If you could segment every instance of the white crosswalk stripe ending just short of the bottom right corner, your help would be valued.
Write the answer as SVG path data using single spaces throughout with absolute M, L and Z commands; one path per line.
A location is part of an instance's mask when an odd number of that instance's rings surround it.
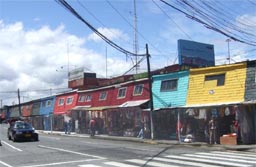
M 219 161 L 219 160 L 210 160 L 210 159 L 202 159 L 202 158 L 195 158 L 195 157 L 185 157 L 185 155 L 181 155 L 181 156 L 168 155 L 166 157 L 174 158 L 174 159 L 205 162 L 205 163 L 214 163 L 214 164 L 227 165 L 227 166 L 237 166 L 237 167 L 249 167 L 250 166 L 250 165 L 242 165 L 242 164 L 238 164 L 238 163 Z

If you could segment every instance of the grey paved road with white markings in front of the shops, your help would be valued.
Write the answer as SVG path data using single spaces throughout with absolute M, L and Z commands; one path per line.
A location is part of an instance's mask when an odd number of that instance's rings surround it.
M 1 125 L 0 125 L 1 126 Z M 40 134 L 39 142 L 12 142 L 0 127 L 2 167 L 256 166 L 256 153 Z

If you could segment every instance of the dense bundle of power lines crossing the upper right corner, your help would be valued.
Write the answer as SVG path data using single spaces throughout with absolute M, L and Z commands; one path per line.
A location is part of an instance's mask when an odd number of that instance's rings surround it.
M 254 34 L 241 30 L 241 28 L 235 26 L 233 23 L 226 23 L 225 18 L 220 19 L 215 15 L 209 15 L 209 11 L 213 12 L 213 9 L 209 8 L 209 6 L 202 6 L 202 4 L 199 6 L 197 2 L 187 0 L 177 0 L 177 3 L 174 5 L 166 2 L 165 0 L 160 1 L 167 6 L 183 13 L 191 20 L 204 25 L 208 29 L 221 33 L 234 41 L 256 46 L 256 40 L 253 40 L 255 37 Z M 193 5 L 193 2 L 196 5 Z M 205 10 L 205 8 L 209 11 L 206 12 L 207 10 Z

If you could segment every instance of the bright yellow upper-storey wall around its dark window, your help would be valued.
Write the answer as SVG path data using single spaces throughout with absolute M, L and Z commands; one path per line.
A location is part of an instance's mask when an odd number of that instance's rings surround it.
M 206 75 L 225 73 L 225 83 L 205 81 Z M 244 101 L 246 63 L 190 69 L 187 105 Z

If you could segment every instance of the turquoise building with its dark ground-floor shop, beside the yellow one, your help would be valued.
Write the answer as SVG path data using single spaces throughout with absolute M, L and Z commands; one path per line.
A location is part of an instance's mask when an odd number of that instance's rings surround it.
M 189 71 L 178 71 L 152 77 L 153 121 L 157 138 L 178 139 L 180 107 L 186 105 Z

